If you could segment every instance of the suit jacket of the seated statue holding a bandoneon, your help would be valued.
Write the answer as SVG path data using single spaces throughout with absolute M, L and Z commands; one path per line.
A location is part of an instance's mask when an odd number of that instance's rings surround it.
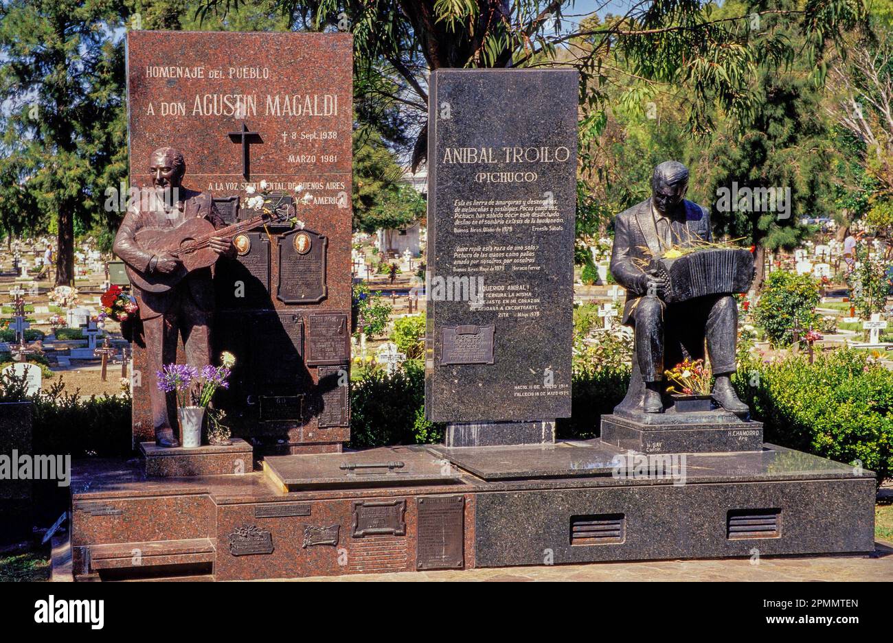
M 686 200 L 685 220 L 672 221 L 673 243 L 679 246 L 690 245 L 694 239 L 712 241 L 710 215 L 706 208 Z M 611 253 L 611 274 L 614 280 L 626 288 L 626 303 L 623 305 L 622 324 L 630 325 L 630 313 L 639 297 L 645 294 L 638 291 L 638 276 L 645 271 L 637 261 L 648 261 L 661 252 L 657 236 L 655 218 L 651 211 L 651 199 L 624 210 L 614 218 L 614 243 Z

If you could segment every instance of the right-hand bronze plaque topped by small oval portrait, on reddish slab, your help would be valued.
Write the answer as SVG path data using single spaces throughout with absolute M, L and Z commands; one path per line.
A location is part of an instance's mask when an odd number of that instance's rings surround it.
M 279 286 L 284 303 L 319 303 L 326 298 L 326 251 L 329 240 L 312 230 L 292 230 L 279 237 Z

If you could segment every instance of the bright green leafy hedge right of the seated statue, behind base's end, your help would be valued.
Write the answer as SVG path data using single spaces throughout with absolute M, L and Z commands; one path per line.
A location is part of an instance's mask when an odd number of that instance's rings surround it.
M 744 364 L 735 383 L 765 441 L 893 475 L 893 372 L 864 352 Z

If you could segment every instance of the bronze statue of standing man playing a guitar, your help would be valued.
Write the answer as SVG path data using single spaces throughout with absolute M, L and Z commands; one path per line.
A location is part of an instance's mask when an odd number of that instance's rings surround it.
M 234 257 L 230 227 L 209 193 L 182 187 L 183 155 L 172 147 L 149 159 L 152 189 L 128 209 L 114 252 L 126 264 L 139 305 L 146 341 L 144 385 L 149 387 L 155 443 L 176 447 L 167 396 L 155 385 L 155 372 L 177 359 L 182 337 L 188 364 L 212 363 L 214 288 L 211 267 L 218 257 Z M 255 224 L 256 225 L 256 224 Z M 223 229 L 220 229 L 223 228 Z

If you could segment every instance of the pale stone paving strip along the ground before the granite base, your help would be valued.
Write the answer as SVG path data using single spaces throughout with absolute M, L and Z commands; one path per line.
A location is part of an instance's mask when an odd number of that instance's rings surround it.
M 463 572 L 363 573 L 296 581 L 893 581 L 893 543 L 872 556 L 808 556 L 503 567 Z

